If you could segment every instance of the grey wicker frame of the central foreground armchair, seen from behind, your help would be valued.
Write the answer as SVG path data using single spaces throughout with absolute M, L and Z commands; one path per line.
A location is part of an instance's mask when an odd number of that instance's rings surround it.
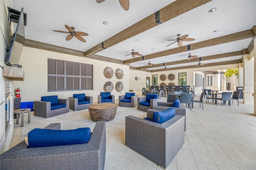
M 125 144 L 166 168 L 184 144 L 185 117 L 176 115 L 160 124 L 134 116 L 125 122 Z

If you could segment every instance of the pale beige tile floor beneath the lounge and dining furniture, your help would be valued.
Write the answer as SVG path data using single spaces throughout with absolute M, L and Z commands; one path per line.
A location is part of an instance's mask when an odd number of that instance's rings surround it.
M 105 170 L 162 169 L 125 146 L 125 117 L 128 115 L 144 118 L 146 112 L 138 111 L 137 107 L 118 107 L 116 117 L 106 122 Z M 48 119 L 31 116 L 29 124 L 27 114 L 24 119 L 24 127 L 14 124 L 10 147 L 24 140 L 33 128 L 44 128 L 50 123 L 61 123 L 62 129 L 90 127 L 91 130 L 96 124 L 91 121 L 88 109 L 70 110 Z M 204 99 L 204 110 L 199 103 L 194 104 L 192 111 L 186 107 L 185 144 L 166 169 L 256 170 L 256 116 L 253 105 L 239 103 L 238 106 L 234 101 L 231 107 L 222 107 L 220 101 L 214 105 L 211 101 L 206 104 Z

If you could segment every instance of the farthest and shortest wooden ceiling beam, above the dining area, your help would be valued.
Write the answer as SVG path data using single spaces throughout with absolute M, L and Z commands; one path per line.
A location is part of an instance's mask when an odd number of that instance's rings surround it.
M 229 64 L 238 64 L 238 60 L 232 60 L 232 61 L 223 61 L 218 63 L 208 63 L 207 65 L 198 65 L 195 67 L 195 65 L 188 65 L 188 66 L 182 66 L 182 67 L 172 67 L 168 70 L 165 69 L 156 69 L 151 70 L 151 72 L 157 72 L 157 71 L 170 71 L 170 70 L 178 70 L 178 69 L 192 69 L 192 68 L 198 68 L 198 67 L 211 67 L 211 66 L 219 66 L 219 65 L 229 65 Z

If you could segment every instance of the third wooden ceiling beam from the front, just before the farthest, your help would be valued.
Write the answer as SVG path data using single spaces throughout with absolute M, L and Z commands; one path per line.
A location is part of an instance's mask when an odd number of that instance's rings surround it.
M 225 57 L 233 57 L 233 56 L 239 56 L 243 55 L 243 51 L 234 51 L 230 53 L 223 53 L 223 54 L 217 54 L 217 55 L 208 55 L 205 57 L 202 57 L 202 61 L 210 60 L 210 59 L 220 59 L 220 58 L 225 58 Z M 167 65 L 176 65 L 176 64 L 184 64 L 184 63 L 190 63 L 190 62 L 196 62 L 199 61 L 199 58 L 192 58 L 190 60 L 184 59 L 180 61 L 173 61 L 173 62 L 168 62 L 164 63 L 164 66 Z M 163 63 L 152 65 L 152 66 L 144 66 L 144 67 L 137 67 L 136 69 L 148 69 L 148 68 L 154 68 L 154 67 L 162 67 Z

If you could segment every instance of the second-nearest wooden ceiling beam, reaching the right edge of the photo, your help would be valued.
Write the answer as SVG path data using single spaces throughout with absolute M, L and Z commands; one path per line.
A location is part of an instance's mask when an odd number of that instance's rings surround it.
M 256 27 L 256 26 L 254 26 L 254 27 Z M 234 34 L 229 34 L 226 36 L 190 44 L 190 50 L 210 47 L 210 46 L 219 45 L 219 44 L 228 43 L 228 42 L 234 42 L 234 41 L 238 41 L 238 40 L 244 40 L 244 39 L 252 38 L 252 37 L 254 37 L 254 33 L 253 33 L 252 29 L 245 30 L 245 31 L 234 33 Z M 176 54 L 176 53 L 182 53 L 182 52 L 186 52 L 186 51 L 188 51 L 187 45 L 182 46 L 182 47 L 176 47 L 173 49 L 168 49 L 165 51 L 160 51 L 157 53 L 152 53 L 149 55 L 144 55 L 144 60 L 149 60 L 149 59 L 153 59 L 153 58 L 157 58 L 157 57 L 172 55 L 172 54 Z M 142 61 L 142 57 L 136 57 L 133 59 L 125 60 L 124 64 L 134 63 L 137 61 Z

